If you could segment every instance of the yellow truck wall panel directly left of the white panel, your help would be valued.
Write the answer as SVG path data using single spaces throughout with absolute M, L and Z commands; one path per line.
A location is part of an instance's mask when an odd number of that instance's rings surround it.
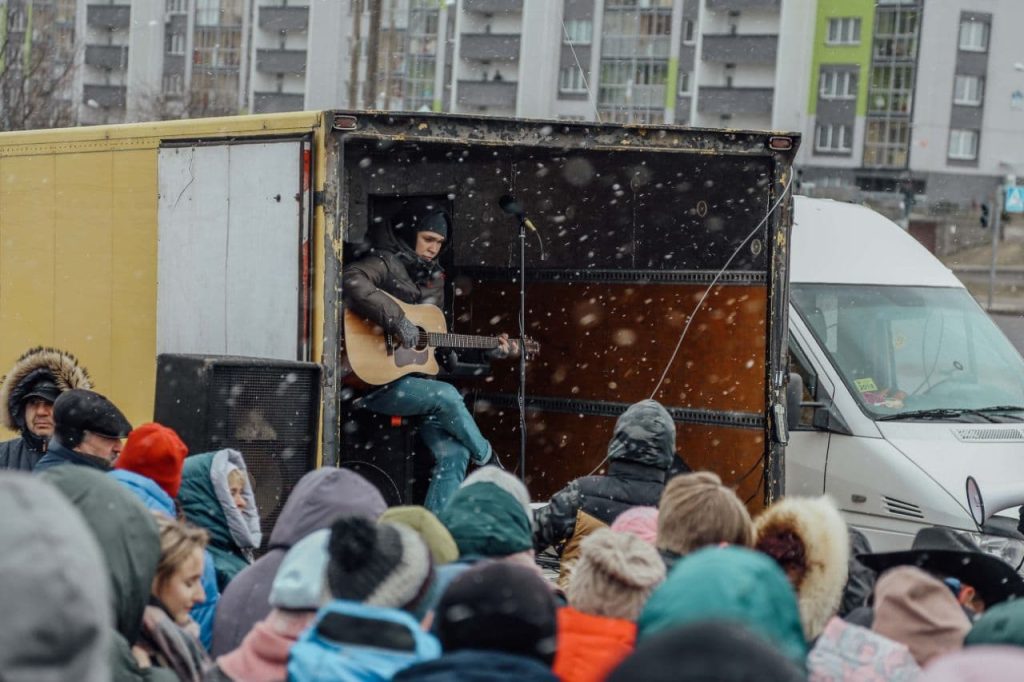
M 153 421 L 157 356 L 157 152 L 112 155 L 111 397 Z M 116 397 L 115 397 L 116 396 Z

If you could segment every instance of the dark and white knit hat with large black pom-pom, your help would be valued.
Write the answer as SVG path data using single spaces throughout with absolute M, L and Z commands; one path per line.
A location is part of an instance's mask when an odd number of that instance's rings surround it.
M 336 599 L 416 611 L 433 580 L 430 550 L 416 531 L 348 516 L 331 526 L 328 585 Z

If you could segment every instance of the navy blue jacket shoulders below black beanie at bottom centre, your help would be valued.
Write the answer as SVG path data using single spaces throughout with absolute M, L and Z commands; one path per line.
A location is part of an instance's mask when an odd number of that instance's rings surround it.
M 551 669 L 536 658 L 505 651 L 460 649 L 436 660 L 416 664 L 394 676 L 395 682 L 558 682 Z

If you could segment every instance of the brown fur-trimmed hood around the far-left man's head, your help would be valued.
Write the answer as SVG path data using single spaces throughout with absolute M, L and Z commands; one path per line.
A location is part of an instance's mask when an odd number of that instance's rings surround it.
M 14 367 L 0 379 L 0 423 L 11 431 L 22 431 L 25 419 L 22 400 L 41 379 L 52 381 L 61 392 L 72 388 L 92 388 L 92 380 L 78 358 L 58 348 L 39 346 L 17 358 Z

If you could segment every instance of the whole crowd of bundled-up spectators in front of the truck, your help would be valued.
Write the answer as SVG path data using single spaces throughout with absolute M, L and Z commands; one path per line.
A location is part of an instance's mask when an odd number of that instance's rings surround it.
M 1024 580 L 926 528 L 871 552 L 827 498 L 755 516 L 681 467 L 653 400 L 604 473 L 535 511 L 482 466 L 437 513 L 359 474 L 294 487 L 264 542 L 245 456 L 131 428 L 74 358 L 0 386 L 9 680 L 952 682 L 1024 670 Z M 538 553 L 554 552 L 547 574 Z

